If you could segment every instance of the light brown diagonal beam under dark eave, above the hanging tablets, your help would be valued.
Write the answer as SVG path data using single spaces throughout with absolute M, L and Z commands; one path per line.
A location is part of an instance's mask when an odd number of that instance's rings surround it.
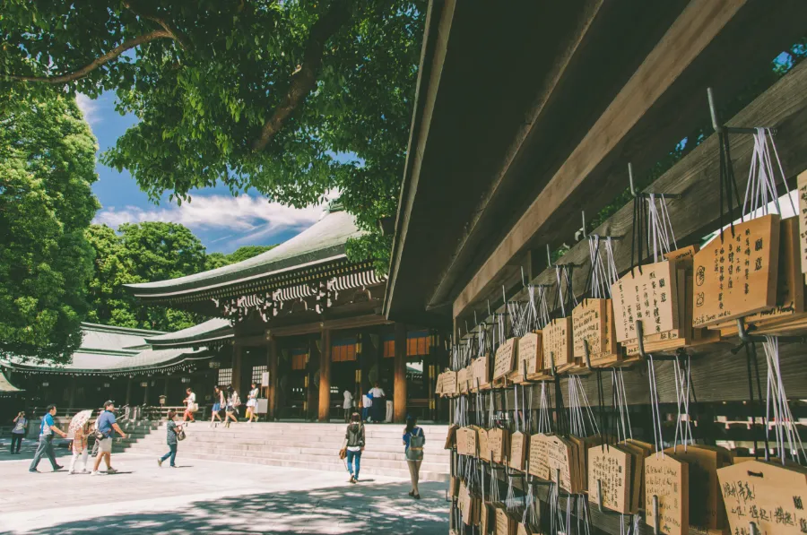
M 744 0 L 694 0 L 673 22 L 594 127 L 560 166 L 513 229 L 454 302 L 455 317 L 479 297 L 513 257 L 521 254 L 552 212 L 617 148 L 672 83 L 745 4 Z

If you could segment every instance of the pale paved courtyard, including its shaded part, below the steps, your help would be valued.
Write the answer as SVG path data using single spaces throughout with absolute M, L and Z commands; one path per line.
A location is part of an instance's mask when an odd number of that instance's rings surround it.
M 47 461 L 30 474 L 34 444 L 26 442 L 23 454 L 11 455 L 0 441 L 0 533 L 448 531 L 445 483 L 422 484 L 415 502 L 402 479 L 369 476 L 349 485 L 342 473 L 183 459 L 181 449 L 178 469 L 119 453 L 114 475 L 51 472 Z M 69 455 L 57 452 L 66 467 Z

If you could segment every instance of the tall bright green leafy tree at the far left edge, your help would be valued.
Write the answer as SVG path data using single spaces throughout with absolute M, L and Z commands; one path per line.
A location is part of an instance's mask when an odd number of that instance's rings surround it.
M 65 362 L 87 314 L 97 143 L 74 99 L 18 97 L 0 113 L 0 354 Z

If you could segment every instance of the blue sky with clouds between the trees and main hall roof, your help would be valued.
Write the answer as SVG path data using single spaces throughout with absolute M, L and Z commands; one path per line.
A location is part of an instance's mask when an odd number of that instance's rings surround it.
M 121 116 L 115 110 L 114 93 L 104 93 L 91 100 L 77 98 L 84 118 L 98 138 L 100 151 L 114 145 L 126 129 L 136 123 L 133 115 Z M 171 221 L 193 230 L 209 253 L 231 253 L 240 246 L 282 243 L 310 225 L 321 214 L 321 207 L 298 210 L 268 203 L 255 192 L 233 197 L 226 186 L 192 192 L 191 203 L 170 203 L 165 194 L 161 203 L 149 201 L 127 172 L 96 164 L 99 180 L 92 186 L 102 208 L 94 222 L 117 228 L 120 223 L 139 221 Z

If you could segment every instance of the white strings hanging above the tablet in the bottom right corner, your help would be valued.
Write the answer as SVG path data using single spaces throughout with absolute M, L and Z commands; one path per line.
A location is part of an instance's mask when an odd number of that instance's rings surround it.
M 766 419 L 770 419 L 771 404 L 773 405 L 773 422 L 777 440 L 777 449 L 782 464 L 785 464 L 787 451 L 794 462 L 801 464 L 804 455 L 804 446 L 799 431 L 795 427 L 793 413 L 790 404 L 787 402 L 785 384 L 782 381 L 782 370 L 779 367 L 779 341 L 776 336 L 766 336 L 762 344 L 765 349 L 765 357 L 768 360 L 768 397 L 766 401 Z M 766 431 L 770 436 L 770 424 Z M 786 445 L 785 445 L 786 443 Z

